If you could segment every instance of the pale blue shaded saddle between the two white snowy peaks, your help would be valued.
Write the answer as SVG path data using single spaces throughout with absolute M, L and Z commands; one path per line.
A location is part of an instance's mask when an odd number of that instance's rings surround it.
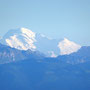
M 57 47 L 59 40 L 51 39 L 42 34 L 36 34 L 35 46 L 37 50 L 45 53 L 47 56 L 56 57 L 59 55 L 59 48 Z

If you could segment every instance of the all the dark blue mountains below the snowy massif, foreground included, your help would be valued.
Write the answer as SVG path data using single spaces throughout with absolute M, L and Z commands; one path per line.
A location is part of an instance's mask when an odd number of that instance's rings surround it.
M 0 90 L 90 90 L 90 46 L 52 58 L 0 44 Z

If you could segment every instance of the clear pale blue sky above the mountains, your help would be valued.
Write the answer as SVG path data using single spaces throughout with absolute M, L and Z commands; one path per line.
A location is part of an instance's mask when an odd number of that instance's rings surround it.
M 90 45 L 90 0 L 0 0 L 0 36 L 19 27 Z

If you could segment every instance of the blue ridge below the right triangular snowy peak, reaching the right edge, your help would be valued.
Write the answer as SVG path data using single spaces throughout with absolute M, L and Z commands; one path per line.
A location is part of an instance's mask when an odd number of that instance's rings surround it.
M 88 62 L 90 61 L 90 46 L 83 46 L 77 52 L 70 55 L 60 55 L 57 59 L 70 64 Z

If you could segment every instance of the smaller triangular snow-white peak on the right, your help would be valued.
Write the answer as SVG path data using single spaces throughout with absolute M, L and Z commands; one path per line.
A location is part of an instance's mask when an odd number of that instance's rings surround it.
M 60 55 L 71 54 L 73 52 L 77 52 L 81 48 L 80 45 L 69 41 L 67 38 L 60 41 L 58 47 L 60 49 Z

